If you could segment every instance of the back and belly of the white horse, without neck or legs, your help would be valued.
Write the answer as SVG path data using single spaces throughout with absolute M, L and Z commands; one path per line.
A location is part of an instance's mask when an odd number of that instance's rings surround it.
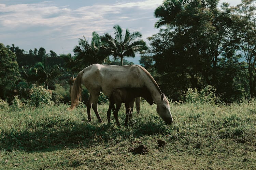
M 143 87 L 143 72 L 137 65 L 93 64 L 84 69 L 83 82 L 87 88 L 99 86 L 106 96 L 110 96 L 113 89 Z

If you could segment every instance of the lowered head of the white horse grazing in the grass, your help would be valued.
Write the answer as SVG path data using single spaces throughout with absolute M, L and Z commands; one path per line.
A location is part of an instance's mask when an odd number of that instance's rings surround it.
M 170 105 L 164 94 L 161 94 L 161 101 L 157 104 L 156 112 L 166 124 L 171 124 L 173 122 Z

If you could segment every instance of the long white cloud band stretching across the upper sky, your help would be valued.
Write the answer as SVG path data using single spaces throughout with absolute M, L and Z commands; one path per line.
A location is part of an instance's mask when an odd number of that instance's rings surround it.
M 65 24 L 77 24 L 79 22 L 97 21 L 104 25 L 109 22 L 105 16 L 108 14 L 120 14 L 124 8 L 138 7 L 148 10 L 154 9 L 161 1 L 147 0 L 130 3 L 117 3 L 112 5 L 92 5 L 83 6 L 77 9 L 65 7 L 50 6 L 48 2 L 34 4 L 16 4 L 6 6 L 0 4 L 0 24 L 4 27 L 17 28 L 24 26 L 46 25 L 46 26 L 63 26 Z M 126 19 L 126 16 L 121 16 L 120 19 Z

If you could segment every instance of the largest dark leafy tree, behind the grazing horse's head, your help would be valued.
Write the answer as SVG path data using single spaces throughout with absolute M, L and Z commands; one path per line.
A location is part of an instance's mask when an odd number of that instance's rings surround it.
M 200 89 L 206 85 L 223 89 L 219 77 L 225 77 L 224 73 L 232 79 L 222 80 L 233 84 L 234 72 L 225 70 L 228 68 L 221 62 L 237 49 L 240 22 L 227 3 L 221 8 L 217 4 L 218 0 L 189 1 L 179 12 L 169 13 L 173 16 L 166 29 L 149 38 L 154 66 L 166 90 L 168 86 L 184 91 L 187 87 Z M 177 99 L 178 94 L 170 94 Z

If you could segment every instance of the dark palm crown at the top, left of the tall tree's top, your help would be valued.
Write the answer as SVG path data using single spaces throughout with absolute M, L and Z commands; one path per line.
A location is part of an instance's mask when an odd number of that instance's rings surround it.
M 155 12 L 154 16 L 159 18 L 155 23 L 155 28 L 160 28 L 166 24 L 171 26 L 177 26 L 175 22 L 175 16 L 184 10 L 185 5 L 188 5 L 191 0 L 165 0 L 162 5 L 159 5 Z M 179 33 L 181 32 L 180 26 Z

